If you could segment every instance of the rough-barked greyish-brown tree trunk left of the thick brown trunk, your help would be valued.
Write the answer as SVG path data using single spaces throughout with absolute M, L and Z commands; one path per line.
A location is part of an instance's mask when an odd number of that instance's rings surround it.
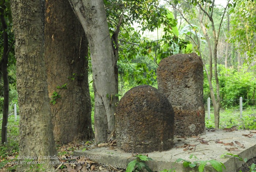
M 38 156 L 35 161 L 45 161 L 46 171 L 52 171 L 49 161 L 56 159 L 40 158 L 57 154 L 44 62 L 44 6 L 42 0 L 11 1 L 20 114 L 19 155 Z M 23 168 L 18 171 L 26 171 Z

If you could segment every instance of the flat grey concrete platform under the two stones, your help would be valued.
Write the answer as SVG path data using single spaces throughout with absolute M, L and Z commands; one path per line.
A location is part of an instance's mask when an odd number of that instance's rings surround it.
M 195 168 L 184 168 L 182 162 L 175 163 L 178 158 L 185 160 L 190 160 L 189 156 L 191 154 L 196 155 L 199 160 L 217 160 L 222 162 L 226 169 L 223 169 L 223 172 L 236 172 L 238 168 L 242 166 L 242 162 L 238 161 L 233 157 L 220 158 L 221 155 L 225 153 L 232 153 L 239 155 L 240 157 L 252 159 L 256 157 L 256 133 L 252 137 L 245 137 L 243 134 L 250 134 L 249 130 L 235 130 L 233 132 L 225 132 L 223 130 L 215 130 L 214 132 L 206 131 L 206 134 L 199 136 L 203 138 L 204 141 L 207 141 L 207 144 L 200 143 L 200 140 L 195 137 L 189 138 L 178 138 L 174 137 L 175 146 L 183 146 L 184 144 L 196 145 L 190 146 L 192 150 L 184 151 L 184 148 L 173 148 L 168 151 L 163 152 L 152 152 L 146 153 L 148 157 L 151 157 L 153 161 L 148 161 L 148 166 L 153 171 L 162 171 L 163 169 L 173 169 L 175 168 L 176 172 L 189 172 L 196 171 Z M 216 143 L 215 141 L 223 141 L 224 143 L 233 142 L 234 145 L 223 145 Z M 241 148 L 235 143 L 235 141 L 240 142 L 244 145 L 245 148 Z M 113 147 L 112 147 L 113 148 Z M 238 151 L 228 151 L 230 148 L 238 148 Z M 231 149 L 232 150 L 232 149 Z M 133 154 L 134 155 L 134 154 Z M 74 156 L 84 156 L 89 157 L 91 161 L 95 161 L 101 164 L 110 164 L 116 168 L 127 167 L 127 164 L 134 160 L 132 153 L 124 153 L 120 150 L 114 149 L 110 150 L 109 147 L 89 149 L 84 152 L 82 150 L 74 151 Z M 145 154 L 144 154 L 145 155 Z M 192 159 L 192 161 L 195 161 Z M 205 172 L 214 172 L 215 170 L 212 167 L 207 166 L 204 170 Z

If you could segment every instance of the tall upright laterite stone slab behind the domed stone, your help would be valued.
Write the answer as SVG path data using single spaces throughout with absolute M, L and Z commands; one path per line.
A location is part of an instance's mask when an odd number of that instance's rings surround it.
M 172 55 L 159 63 L 158 89 L 172 104 L 175 135 L 205 133 L 203 80 L 203 62 L 195 53 Z

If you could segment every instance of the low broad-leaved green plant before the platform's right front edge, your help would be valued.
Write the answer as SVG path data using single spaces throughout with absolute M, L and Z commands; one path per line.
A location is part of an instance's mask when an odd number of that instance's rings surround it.
M 180 161 L 184 161 L 182 164 L 183 164 L 183 167 L 187 168 L 187 167 L 190 167 L 190 168 L 195 168 L 198 166 L 198 171 L 199 172 L 203 172 L 204 171 L 204 167 L 205 165 L 208 163 L 210 164 L 216 171 L 218 172 L 222 172 L 222 168 L 225 168 L 225 165 L 221 162 L 218 162 L 216 160 L 205 160 L 205 161 L 200 161 L 195 155 L 190 155 L 189 156 L 189 159 L 195 159 L 195 161 L 187 161 L 187 160 L 184 160 L 184 159 L 177 159 L 176 162 L 180 162 Z

